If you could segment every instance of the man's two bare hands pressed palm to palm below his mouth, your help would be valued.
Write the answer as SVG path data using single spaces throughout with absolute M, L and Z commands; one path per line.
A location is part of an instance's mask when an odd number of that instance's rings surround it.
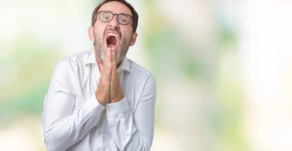
M 105 55 L 103 65 L 99 65 L 101 76 L 95 92 L 95 97 L 101 105 L 105 105 L 108 99 L 110 103 L 115 103 L 124 97 L 115 62 L 115 53 L 108 48 Z

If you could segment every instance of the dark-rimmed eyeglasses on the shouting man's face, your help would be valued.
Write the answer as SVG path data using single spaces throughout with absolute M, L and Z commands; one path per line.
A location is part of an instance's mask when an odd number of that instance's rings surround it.
M 99 11 L 97 14 L 99 14 L 99 19 L 104 22 L 110 22 L 116 15 L 118 23 L 123 25 L 128 25 L 132 19 L 132 16 L 128 14 L 113 14 L 109 11 Z

